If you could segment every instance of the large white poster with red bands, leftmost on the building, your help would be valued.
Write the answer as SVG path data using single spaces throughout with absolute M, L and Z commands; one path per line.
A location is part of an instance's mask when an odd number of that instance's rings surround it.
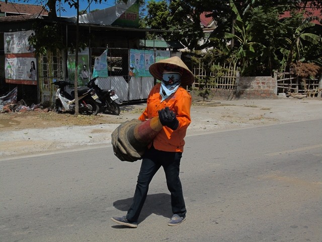
M 32 30 L 4 33 L 6 83 L 37 85 L 37 61 L 28 38 Z

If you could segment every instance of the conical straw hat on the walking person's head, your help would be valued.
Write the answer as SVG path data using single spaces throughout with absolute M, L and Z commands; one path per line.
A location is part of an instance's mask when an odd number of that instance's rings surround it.
M 189 70 L 189 68 L 184 64 L 184 62 L 178 56 L 170 57 L 167 59 L 162 59 L 156 63 L 153 63 L 149 67 L 149 72 L 151 75 L 157 80 L 162 81 L 162 73 L 165 69 L 166 64 L 176 65 L 178 67 L 183 68 L 183 73 L 181 76 L 181 85 L 188 86 L 191 85 L 195 81 L 195 77 L 193 73 Z

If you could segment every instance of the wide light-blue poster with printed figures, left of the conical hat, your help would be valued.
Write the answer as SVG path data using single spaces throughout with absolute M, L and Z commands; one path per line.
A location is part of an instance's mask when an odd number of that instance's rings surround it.
M 130 76 L 151 77 L 149 67 L 153 63 L 153 50 L 130 49 Z

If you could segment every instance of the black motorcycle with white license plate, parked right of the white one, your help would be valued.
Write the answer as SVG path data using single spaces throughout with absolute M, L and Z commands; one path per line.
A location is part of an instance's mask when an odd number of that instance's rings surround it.
M 95 81 L 97 78 L 92 79 L 88 82 L 87 87 L 93 88 L 97 95 L 99 96 L 102 104 L 100 105 L 102 112 L 111 112 L 114 115 L 120 114 L 120 105 L 116 102 L 119 98 L 114 89 L 101 89 L 98 85 L 96 85 Z M 118 100 L 119 101 L 119 100 Z M 120 101 L 122 102 L 122 101 Z

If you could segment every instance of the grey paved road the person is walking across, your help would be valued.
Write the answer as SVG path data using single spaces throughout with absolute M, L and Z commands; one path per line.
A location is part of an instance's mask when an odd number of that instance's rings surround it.
M 140 162 L 112 148 L 0 162 L 0 241 L 322 241 L 322 119 L 186 139 L 187 220 L 175 227 L 164 172 L 136 229 L 114 224 Z

